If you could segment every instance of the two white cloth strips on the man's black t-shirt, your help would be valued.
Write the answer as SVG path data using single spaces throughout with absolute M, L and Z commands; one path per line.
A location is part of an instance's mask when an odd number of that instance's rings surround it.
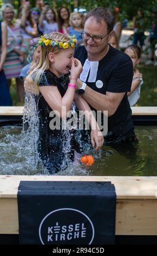
M 98 66 L 99 66 L 99 62 L 90 62 L 88 59 L 86 59 L 86 62 L 84 62 L 84 65 L 83 65 L 82 73 L 80 75 L 81 81 L 86 82 L 89 74 L 88 82 L 90 83 L 95 82 Z M 89 73 L 89 70 L 90 70 L 90 73 Z

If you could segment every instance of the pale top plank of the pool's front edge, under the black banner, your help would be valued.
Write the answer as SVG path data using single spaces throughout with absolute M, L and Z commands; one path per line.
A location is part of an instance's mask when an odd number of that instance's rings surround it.
M 157 177 L 149 176 L 20 176 L 0 175 L 0 198 L 16 198 L 21 180 L 111 181 L 117 199 L 156 199 Z

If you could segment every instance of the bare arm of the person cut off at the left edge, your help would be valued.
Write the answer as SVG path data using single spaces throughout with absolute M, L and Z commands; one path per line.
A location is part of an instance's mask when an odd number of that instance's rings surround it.
M 7 45 L 7 27 L 5 22 L 2 22 L 2 48 L 1 48 L 1 59 L 0 59 L 0 71 L 3 68 L 3 64 L 6 57 L 6 45 Z

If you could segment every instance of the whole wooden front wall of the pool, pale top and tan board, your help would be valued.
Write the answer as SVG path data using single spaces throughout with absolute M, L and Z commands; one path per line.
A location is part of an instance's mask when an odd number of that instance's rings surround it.
M 157 235 L 157 177 L 0 175 L 0 234 L 18 234 L 17 191 L 21 180 L 111 181 L 115 185 L 116 235 Z

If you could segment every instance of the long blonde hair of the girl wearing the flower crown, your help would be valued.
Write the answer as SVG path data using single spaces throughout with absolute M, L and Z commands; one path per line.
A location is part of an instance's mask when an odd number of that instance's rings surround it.
M 53 40 L 53 41 L 60 41 L 60 42 L 69 42 L 69 36 L 64 35 L 60 32 L 53 32 L 49 33 L 47 35 L 47 39 Z M 40 46 L 40 59 L 35 66 L 34 70 L 32 70 L 29 75 L 26 78 L 26 81 L 30 84 L 32 84 L 32 80 L 34 80 L 34 89 L 35 89 L 35 94 L 39 94 L 39 89 L 38 89 L 38 83 L 40 81 L 40 78 L 45 70 L 48 70 L 50 68 L 50 60 L 49 60 L 49 53 L 53 52 L 57 54 L 58 52 L 63 51 L 63 48 L 58 48 L 58 46 Z

